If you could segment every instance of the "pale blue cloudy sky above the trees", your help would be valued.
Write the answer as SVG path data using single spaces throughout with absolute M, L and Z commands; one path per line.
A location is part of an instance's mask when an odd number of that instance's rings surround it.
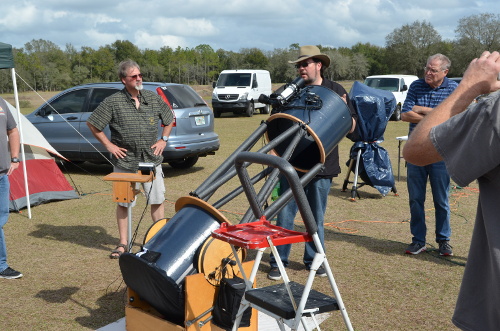
M 239 51 L 292 43 L 351 47 L 385 45 L 385 37 L 417 20 L 444 39 L 461 18 L 500 13 L 498 0 L 18 0 L 2 4 L 0 42 L 33 39 L 94 49 L 128 40 L 140 49 L 208 44 Z

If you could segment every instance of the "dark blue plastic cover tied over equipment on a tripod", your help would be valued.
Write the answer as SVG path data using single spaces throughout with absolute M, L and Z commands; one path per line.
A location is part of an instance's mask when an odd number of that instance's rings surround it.
M 385 196 L 394 187 L 394 175 L 389 154 L 379 143 L 384 141 L 387 122 L 396 109 L 396 99 L 389 91 L 374 89 L 357 81 L 349 97 L 358 114 L 355 138 L 351 138 L 355 143 L 350 158 L 355 160 L 361 149 L 358 175 Z

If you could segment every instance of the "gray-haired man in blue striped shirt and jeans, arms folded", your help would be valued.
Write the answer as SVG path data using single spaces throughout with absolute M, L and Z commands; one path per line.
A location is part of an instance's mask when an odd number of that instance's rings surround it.
M 443 54 L 435 54 L 427 59 L 424 78 L 414 81 L 408 90 L 401 112 L 401 119 L 410 123 L 410 132 L 437 105 L 455 90 L 458 84 L 449 80 L 450 59 Z M 406 249 L 407 254 L 419 254 L 426 250 L 425 237 L 425 196 L 429 179 L 436 217 L 436 242 L 439 254 L 453 255 L 449 244 L 451 236 L 449 188 L 450 175 L 443 161 L 427 166 L 407 164 L 407 185 L 410 200 L 410 230 L 412 242 Z

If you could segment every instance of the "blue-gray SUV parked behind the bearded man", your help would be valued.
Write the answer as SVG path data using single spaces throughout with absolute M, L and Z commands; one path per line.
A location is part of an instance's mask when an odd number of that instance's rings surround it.
M 174 112 L 174 126 L 163 151 L 163 162 L 174 168 L 189 168 L 198 157 L 219 149 L 214 132 L 214 115 L 207 103 L 188 85 L 144 82 L 144 88 L 157 92 Z M 122 83 L 85 84 L 67 89 L 26 118 L 48 142 L 73 162 L 103 163 L 110 153 L 94 138 L 87 119 L 99 103 L 121 90 Z M 110 136 L 109 128 L 104 132 Z M 158 138 L 161 128 L 158 123 Z M 101 153 L 103 155 L 101 155 Z

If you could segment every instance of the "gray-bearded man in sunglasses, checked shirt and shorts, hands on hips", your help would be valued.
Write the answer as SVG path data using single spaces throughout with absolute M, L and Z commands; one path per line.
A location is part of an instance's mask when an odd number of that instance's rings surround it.
M 144 192 L 151 205 L 151 218 L 156 222 L 164 218 L 165 184 L 161 167 L 162 152 L 172 130 L 173 114 L 167 103 L 153 91 L 143 90 L 139 65 L 125 60 L 118 66 L 118 76 L 124 85 L 119 92 L 107 97 L 94 110 L 87 125 L 94 136 L 113 155 L 113 171 L 136 173 L 139 162 L 154 163 L 156 177 L 144 183 Z M 158 120 L 162 121 L 162 138 L 158 139 Z M 111 139 L 104 134 L 109 125 Z M 131 203 L 134 206 L 135 201 Z M 120 242 L 111 252 L 117 259 L 126 251 L 128 240 L 127 203 L 118 203 L 116 217 Z

